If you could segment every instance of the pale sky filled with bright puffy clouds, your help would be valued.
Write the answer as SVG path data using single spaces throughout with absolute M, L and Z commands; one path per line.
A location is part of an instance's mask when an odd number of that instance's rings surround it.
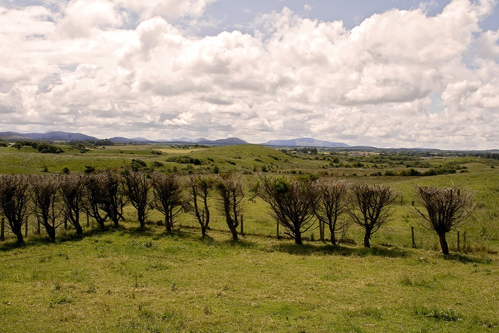
M 499 148 L 497 0 L 0 0 L 0 131 Z

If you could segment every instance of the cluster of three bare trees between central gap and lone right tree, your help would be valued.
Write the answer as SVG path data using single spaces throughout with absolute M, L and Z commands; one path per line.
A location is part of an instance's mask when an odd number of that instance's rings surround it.
M 321 240 L 327 225 L 331 244 L 336 245 L 354 222 L 365 229 L 364 246 L 370 247 L 371 235 L 389 221 L 389 205 L 395 199 L 388 186 L 350 186 L 310 176 L 294 179 L 260 176 L 254 192 L 270 205 L 270 215 L 296 244 L 303 243 L 302 234 L 318 221 Z

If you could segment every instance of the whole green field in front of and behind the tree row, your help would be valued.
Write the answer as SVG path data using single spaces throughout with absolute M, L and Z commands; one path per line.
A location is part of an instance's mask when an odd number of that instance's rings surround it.
M 217 212 L 207 239 L 201 239 L 199 225 L 187 214 L 177 218 L 171 234 L 158 226 L 163 218 L 157 211 L 140 229 L 131 206 L 121 228 L 109 224 L 100 231 L 90 220 L 84 238 L 77 239 L 74 231 L 60 227 L 55 244 L 35 234 L 30 224 L 25 246 L 15 246 L 11 234 L 0 243 L 1 332 L 499 330 L 497 160 L 285 154 L 257 145 L 124 145 L 85 153 L 63 148 L 61 154 L 42 154 L 31 147 L 0 147 L 0 173 L 50 174 L 65 167 L 82 173 L 85 166 L 99 170 L 140 159 L 155 171 L 233 170 L 243 174 L 247 188 L 261 171 L 275 177 L 315 173 L 350 183 L 389 184 L 398 197 L 393 220 L 373 235 L 371 249 L 362 247 L 358 227 L 336 247 L 317 241 L 317 230 L 304 235 L 303 246 L 277 239 L 268 207 L 258 199 L 245 202 L 246 236 L 237 243 L 230 241 Z M 453 167 L 456 173 L 384 176 L 439 167 Z M 461 243 L 457 252 L 453 231 L 448 234 L 451 255 L 438 252 L 436 234 L 414 214 L 415 184 L 454 184 L 473 193 L 477 209 L 459 228 L 467 234 L 465 249 Z

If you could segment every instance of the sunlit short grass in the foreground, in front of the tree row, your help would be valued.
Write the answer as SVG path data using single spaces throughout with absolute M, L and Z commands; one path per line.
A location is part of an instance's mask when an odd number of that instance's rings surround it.
M 0 247 L 2 332 L 494 332 L 497 255 L 198 230 Z

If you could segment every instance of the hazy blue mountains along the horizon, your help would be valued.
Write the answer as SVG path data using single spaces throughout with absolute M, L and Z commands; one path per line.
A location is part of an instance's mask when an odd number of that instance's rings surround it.
M 0 138 L 7 140 L 100 140 L 94 136 L 89 136 L 82 133 L 71 133 L 63 131 L 48 130 L 44 133 L 19 133 L 19 132 L 0 132 Z M 172 139 L 160 139 L 160 140 L 149 140 L 143 137 L 126 138 L 122 136 L 115 136 L 109 140 L 113 142 L 141 142 L 141 143 L 189 143 L 189 144 L 219 144 L 219 145 L 240 145 L 248 144 L 247 141 L 240 138 L 227 138 L 227 139 L 217 139 L 209 140 L 207 138 L 197 138 L 191 139 L 186 136 L 180 138 Z M 296 138 L 289 140 L 270 140 L 264 143 L 260 143 L 264 146 L 287 146 L 287 147 L 351 147 L 346 143 L 342 142 L 330 142 L 323 140 L 316 140 L 313 138 Z

